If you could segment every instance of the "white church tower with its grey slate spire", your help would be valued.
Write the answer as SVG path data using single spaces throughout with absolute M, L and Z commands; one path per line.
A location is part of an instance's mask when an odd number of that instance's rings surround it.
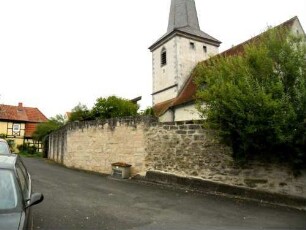
M 149 47 L 153 106 L 177 97 L 195 65 L 218 54 L 220 44 L 201 31 L 194 0 L 171 0 L 167 33 Z

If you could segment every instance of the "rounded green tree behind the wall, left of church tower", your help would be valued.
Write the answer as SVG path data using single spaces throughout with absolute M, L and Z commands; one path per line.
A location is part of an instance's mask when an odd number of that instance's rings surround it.
M 114 117 L 127 117 L 137 115 L 138 105 L 130 100 L 116 96 L 98 98 L 92 115 L 96 118 L 108 119 Z

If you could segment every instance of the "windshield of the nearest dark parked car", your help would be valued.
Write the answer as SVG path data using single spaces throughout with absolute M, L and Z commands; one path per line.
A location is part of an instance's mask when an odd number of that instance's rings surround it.
M 0 211 L 17 208 L 18 196 L 14 174 L 9 170 L 0 170 Z

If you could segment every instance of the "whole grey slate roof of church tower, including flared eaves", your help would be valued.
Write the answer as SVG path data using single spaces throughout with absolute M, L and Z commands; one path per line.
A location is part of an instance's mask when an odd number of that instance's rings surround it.
M 219 40 L 201 31 L 194 0 L 171 0 L 167 33 L 149 49 L 154 50 L 176 34 L 205 40 L 216 46 L 221 44 Z

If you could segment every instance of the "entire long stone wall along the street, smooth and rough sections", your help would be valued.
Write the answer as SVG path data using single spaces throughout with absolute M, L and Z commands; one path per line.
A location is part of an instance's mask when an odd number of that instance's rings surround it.
M 156 170 L 306 198 L 306 172 L 252 163 L 240 167 L 230 148 L 196 122 L 121 119 L 69 124 L 50 135 L 49 158 L 68 167 L 110 174 L 111 164 L 132 165 L 132 175 Z

